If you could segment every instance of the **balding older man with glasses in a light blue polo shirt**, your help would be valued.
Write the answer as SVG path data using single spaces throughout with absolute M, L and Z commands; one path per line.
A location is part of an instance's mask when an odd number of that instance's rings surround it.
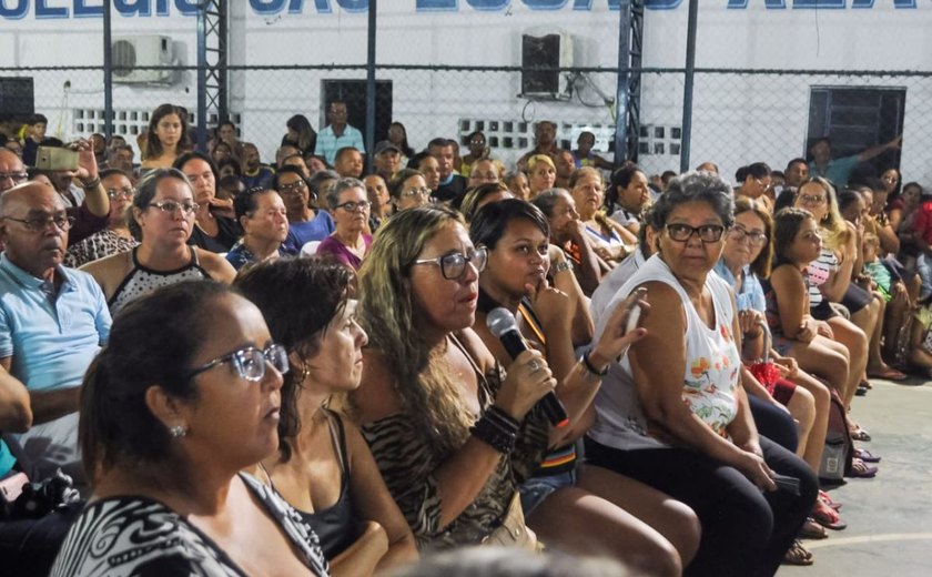
M 94 280 L 62 265 L 74 221 L 59 194 L 39 182 L 8 186 L 8 181 L 0 196 L 6 246 L 0 256 L 0 365 L 29 391 L 33 425 L 18 438 L 22 466 L 33 478 L 61 467 L 80 485 L 80 385 L 110 334 L 110 313 Z

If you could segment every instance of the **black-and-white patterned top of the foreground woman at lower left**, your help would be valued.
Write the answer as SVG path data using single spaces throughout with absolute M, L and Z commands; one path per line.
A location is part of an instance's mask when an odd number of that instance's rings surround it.
M 328 575 L 317 536 L 301 516 L 272 488 L 244 473 L 240 478 L 282 527 L 311 573 Z M 132 496 L 91 503 L 68 532 L 50 575 L 246 577 L 185 518 L 156 500 Z

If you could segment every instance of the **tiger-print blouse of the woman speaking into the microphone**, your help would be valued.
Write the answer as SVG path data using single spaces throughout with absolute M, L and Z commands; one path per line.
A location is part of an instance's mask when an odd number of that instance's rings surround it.
M 450 337 L 450 342 L 466 353 L 458 341 Z M 484 375 L 475 363 L 473 368 L 479 382 L 479 406 L 486 411 L 502 386 L 504 371 L 497 367 Z M 418 548 L 477 545 L 502 525 L 518 486 L 531 476 L 544 457 L 549 431 L 544 414 L 531 411 L 521 423 L 515 449 L 498 462 L 476 499 L 453 523 L 440 527 L 440 496 L 434 472 L 449 455 L 437 454 L 429 439 L 403 413 L 362 427 L 385 484 L 414 532 Z

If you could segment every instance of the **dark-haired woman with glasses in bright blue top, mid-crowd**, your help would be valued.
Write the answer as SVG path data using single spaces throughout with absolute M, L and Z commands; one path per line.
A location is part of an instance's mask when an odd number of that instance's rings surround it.
M 311 186 L 298 168 L 278 169 L 272 188 L 285 201 L 288 214 L 288 235 L 284 244 L 286 253 L 298 254 L 305 244 L 323 241 L 335 230 L 331 215 L 315 209 L 312 198 L 316 195 L 312 196 Z

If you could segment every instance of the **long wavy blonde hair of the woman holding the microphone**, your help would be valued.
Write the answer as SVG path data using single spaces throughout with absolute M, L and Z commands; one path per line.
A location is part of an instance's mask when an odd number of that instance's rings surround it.
M 382 225 L 359 269 L 357 317 L 369 346 L 383 353 L 395 379 L 405 416 L 423 431 L 438 455 L 465 443 L 473 419 L 459 402 L 458 385 L 434 346 L 415 325 L 411 269 L 424 246 L 450 225 L 465 229 L 463 217 L 446 207 L 402 211 Z M 351 407 L 352 409 L 352 407 Z

